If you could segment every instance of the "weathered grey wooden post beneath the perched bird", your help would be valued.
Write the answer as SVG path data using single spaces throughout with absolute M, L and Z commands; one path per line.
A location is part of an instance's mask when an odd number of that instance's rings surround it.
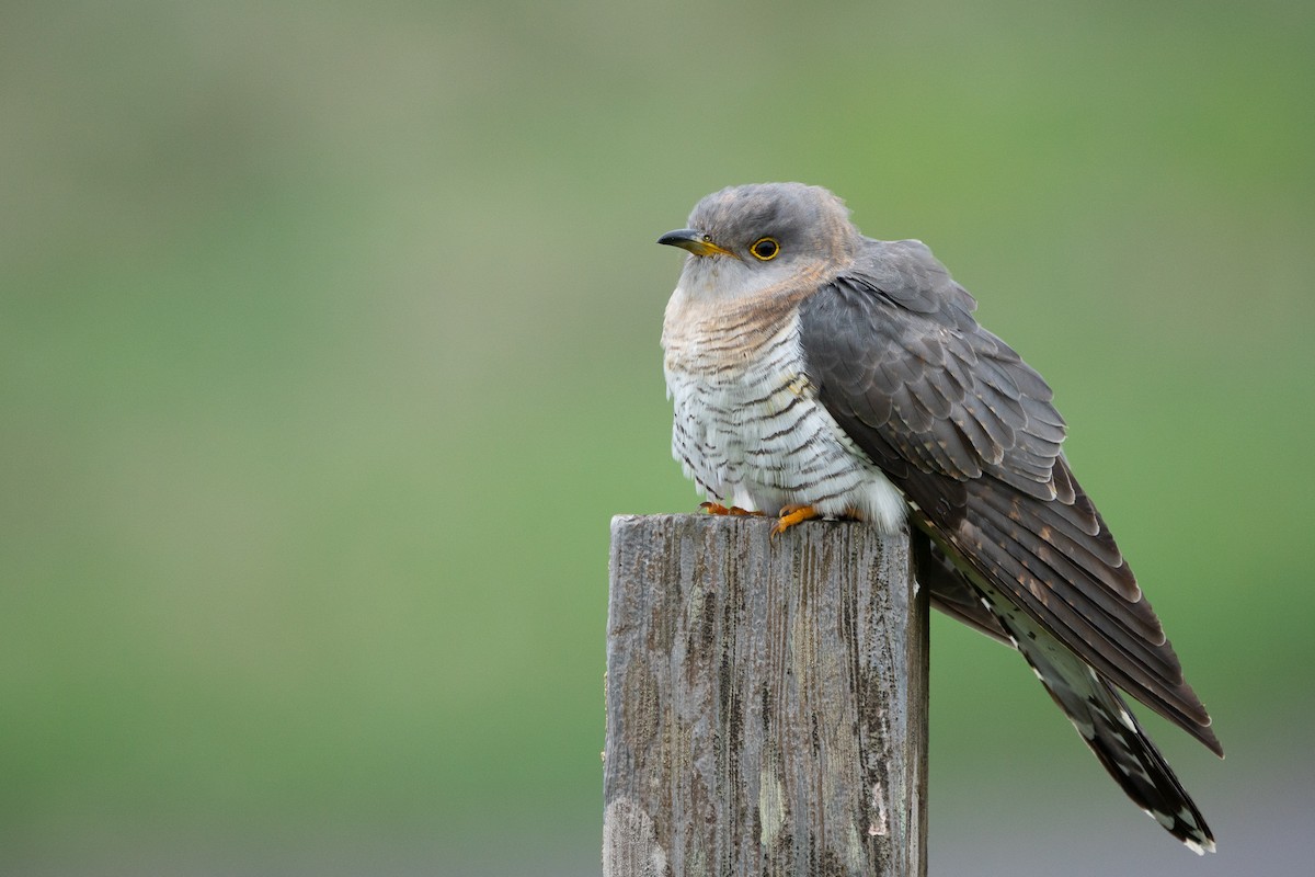
M 906 534 L 611 521 L 604 877 L 922 877 L 927 598 Z

